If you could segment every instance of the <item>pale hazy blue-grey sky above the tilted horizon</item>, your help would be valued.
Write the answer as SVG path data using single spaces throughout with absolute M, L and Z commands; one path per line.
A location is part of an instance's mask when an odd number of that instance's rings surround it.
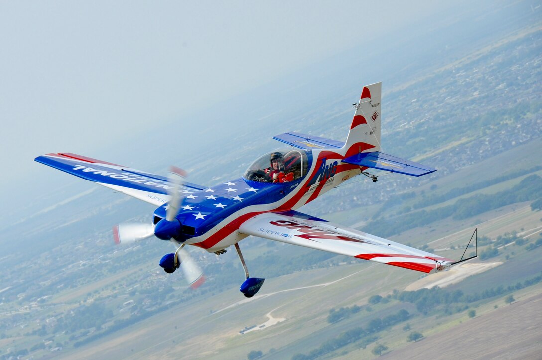
M 2 185 L 33 174 L 42 153 L 93 156 L 163 131 L 164 121 L 451 6 L 436 3 L 0 2 L 3 163 L 18 170 Z

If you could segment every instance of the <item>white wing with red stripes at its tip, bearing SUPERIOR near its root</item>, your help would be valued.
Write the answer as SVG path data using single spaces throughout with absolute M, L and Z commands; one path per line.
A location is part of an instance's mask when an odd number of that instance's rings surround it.
M 397 242 L 290 211 L 263 213 L 244 222 L 239 232 L 330 253 L 353 256 L 424 273 L 440 271 L 454 262 Z

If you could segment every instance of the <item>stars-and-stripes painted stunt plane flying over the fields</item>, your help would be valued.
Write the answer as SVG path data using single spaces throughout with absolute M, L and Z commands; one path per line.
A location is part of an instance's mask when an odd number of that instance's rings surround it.
M 363 88 L 345 142 L 279 134 L 273 138 L 288 148 L 262 155 L 242 177 L 212 187 L 186 182 L 186 173 L 175 167 L 164 177 L 73 153 L 35 160 L 157 206 L 152 223 L 114 228 L 115 242 L 153 235 L 173 242 L 177 251 L 164 255 L 160 266 L 167 273 L 183 267 L 192 287 L 204 278 L 186 245 L 217 255 L 234 246 L 246 274 L 240 291 L 252 297 L 260 290 L 264 279 L 249 276 L 238 244 L 249 235 L 424 273 L 442 271 L 454 261 L 297 211 L 356 175 L 377 182 L 370 169 L 411 176 L 436 171 L 380 151 L 380 97 L 380 82 Z

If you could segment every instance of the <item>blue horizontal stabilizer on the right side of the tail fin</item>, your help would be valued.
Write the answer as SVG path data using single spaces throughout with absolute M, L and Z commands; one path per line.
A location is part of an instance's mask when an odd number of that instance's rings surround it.
M 437 170 L 431 168 L 431 166 L 388 155 L 380 151 L 360 152 L 344 158 L 343 162 L 412 176 L 422 176 Z

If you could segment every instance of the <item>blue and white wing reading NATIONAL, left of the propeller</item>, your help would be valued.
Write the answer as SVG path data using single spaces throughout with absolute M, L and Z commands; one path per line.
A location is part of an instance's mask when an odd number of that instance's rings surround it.
M 156 206 L 163 205 L 170 199 L 167 190 L 172 188 L 172 185 L 166 177 L 154 173 L 69 152 L 49 153 L 38 156 L 35 160 Z M 191 194 L 203 189 L 205 187 L 183 183 L 180 191 Z

